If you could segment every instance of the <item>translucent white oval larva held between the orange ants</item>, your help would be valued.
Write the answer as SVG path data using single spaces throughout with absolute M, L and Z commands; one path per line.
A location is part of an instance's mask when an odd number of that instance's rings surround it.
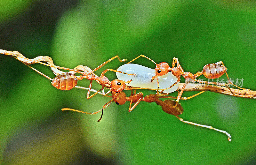
M 133 76 L 116 72 L 116 76 L 120 80 L 127 81 L 132 79 L 132 82 L 127 84 L 128 86 L 157 89 L 156 79 L 151 82 L 152 77 L 155 75 L 154 69 L 138 64 L 124 64 L 120 66 L 117 71 L 122 71 L 129 74 L 136 74 L 136 76 Z M 171 72 L 168 72 L 164 76 L 158 76 L 157 78 L 159 81 L 159 89 L 168 88 L 178 80 L 175 76 L 172 75 Z M 164 90 L 163 92 L 174 92 L 178 89 L 179 84 L 180 83 L 178 82 L 176 85 L 172 86 L 171 89 Z

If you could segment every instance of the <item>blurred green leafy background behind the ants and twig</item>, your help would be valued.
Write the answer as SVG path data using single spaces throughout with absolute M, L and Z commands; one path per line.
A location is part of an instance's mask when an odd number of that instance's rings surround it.
M 256 90 L 255 1 L 0 0 L 0 49 L 54 64 L 95 68 L 119 55 L 156 63 L 178 57 L 185 71 L 223 61 L 231 78 Z M 150 68 L 147 59 L 136 61 Z M 116 69 L 117 60 L 106 68 Z M 33 65 L 50 77 L 47 66 Z M 116 79 L 115 73 L 107 73 Z M 253 99 L 206 92 L 180 101 L 181 123 L 155 103 L 110 105 L 101 122 L 61 108 L 99 110 L 109 98 L 60 91 L 10 56 L 0 55 L 0 164 L 247 164 L 256 161 Z M 224 77 L 224 76 L 223 76 Z M 203 78 L 203 77 L 202 77 Z M 181 81 L 184 82 L 184 79 Z M 78 83 L 89 86 L 88 80 Z M 94 89 L 100 85 L 94 83 Z M 142 91 L 144 94 L 153 91 Z M 127 95 L 130 92 L 127 93 Z M 194 94 L 184 92 L 184 96 Z M 173 95 L 177 95 L 174 93 Z

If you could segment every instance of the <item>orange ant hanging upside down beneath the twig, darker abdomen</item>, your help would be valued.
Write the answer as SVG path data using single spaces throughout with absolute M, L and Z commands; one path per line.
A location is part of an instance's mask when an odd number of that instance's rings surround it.
M 201 94 L 203 92 L 204 91 L 202 91 L 202 92 L 200 92 L 198 94 Z M 159 99 L 159 98 L 176 99 L 177 97 L 165 96 L 165 95 L 159 95 L 159 94 L 149 94 L 149 95 L 143 97 L 143 93 L 140 92 L 140 93 L 136 94 L 136 90 L 134 91 L 134 94 L 132 94 L 129 97 L 127 97 L 123 91 L 121 91 L 119 93 L 116 93 L 116 92 L 112 91 L 111 94 L 112 94 L 112 99 L 110 101 L 108 101 L 102 107 L 102 109 L 100 109 L 100 110 L 98 110 L 96 112 L 89 113 L 89 112 L 84 112 L 84 111 L 80 111 L 80 110 L 76 110 L 76 109 L 70 109 L 70 108 L 63 108 L 61 110 L 62 111 L 64 111 L 64 110 L 71 110 L 71 111 L 81 112 L 81 113 L 90 114 L 90 115 L 95 115 L 95 114 L 97 114 L 97 113 L 99 113 L 101 111 L 101 116 L 100 116 L 100 119 L 98 120 L 98 122 L 100 122 L 100 120 L 102 119 L 102 116 L 103 116 L 103 110 L 105 108 L 107 108 L 112 102 L 116 102 L 117 105 L 123 105 L 126 101 L 130 101 L 130 105 L 129 105 L 129 109 L 128 109 L 129 112 L 131 112 L 140 103 L 140 101 L 156 102 L 157 105 L 160 105 L 162 107 L 164 112 L 166 112 L 168 114 L 171 114 L 171 115 L 174 115 L 181 122 L 187 123 L 187 124 L 196 125 L 196 126 L 200 126 L 200 127 L 204 127 L 204 128 L 209 128 L 209 129 L 212 129 L 212 130 L 215 130 L 215 131 L 219 131 L 219 132 L 225 133 L 228 136 L 228 141 L 231 141 L 231 136 L 226 131 L 216 129 L 216 128 L 213 128 L 212 126 L 208 126 L 208 125 L 202 125 L 202 124 L 197 124 L 197 123 L 185 121 L 182 118 L 180 118 L 178 115 L 181 115 L 183 113 L 183 108 L 180 105 L 180 103 L 178 103 L 176 105 L 176 101 L 173 101 L 173 100 L 162 101 L 162 100 Z M 192 95 L 190 97 L 182 97 L 180 99 L 181 100 L 187 100 L 187 99 L 190 99 L 190 98 L 193 98 L 193 97 L 197 96 L 198 94 Z M 132 106 L 132 103 L 134 103 L 133 106 Z

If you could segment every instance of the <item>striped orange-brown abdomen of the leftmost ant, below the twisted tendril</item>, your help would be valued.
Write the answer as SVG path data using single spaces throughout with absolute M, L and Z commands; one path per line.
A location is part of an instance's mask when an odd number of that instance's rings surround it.
M 75 74 L 68 72 L 61 73 L 52 79 L 52 86 L 60 90 L 69 90 L 75 87 L 77 84 L 77 78 Z

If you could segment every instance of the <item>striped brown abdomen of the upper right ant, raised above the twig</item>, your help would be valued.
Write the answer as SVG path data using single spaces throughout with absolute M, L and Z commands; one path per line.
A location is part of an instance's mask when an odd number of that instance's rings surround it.
M 226 72 L 227 68 L 221 64 L 207 64 L 204 65 L 203 75 L 207 79 L 217 79 Z

